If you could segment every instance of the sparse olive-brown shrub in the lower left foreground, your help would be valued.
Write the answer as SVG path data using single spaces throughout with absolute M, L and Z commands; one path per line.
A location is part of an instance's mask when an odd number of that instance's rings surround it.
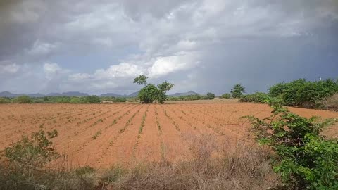
M 42 170 L 46 163 L 58 158 L 59 155 L 51 142 L 57 135 L 56 130 L 33 132 L 30 138 L 23 134 L 19 141 L 4 149 L 1 157 L 6 159 L 8 168 L 1 175 L 4 175 L 8 183 L 6 185 L 12 186 L 9 189 L 33 183 L 35 178 L 39 177 L 37 172 Z

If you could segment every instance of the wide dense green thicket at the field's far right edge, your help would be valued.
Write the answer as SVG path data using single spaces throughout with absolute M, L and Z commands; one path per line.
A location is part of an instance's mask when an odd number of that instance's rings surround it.
M 331 79 L 310 82 L 305 79 L 278 83 L 270 87 L 272 97 L 281 97 L 285 106 L 325 108 L 324 101 L 338 92 L 338 81 Z

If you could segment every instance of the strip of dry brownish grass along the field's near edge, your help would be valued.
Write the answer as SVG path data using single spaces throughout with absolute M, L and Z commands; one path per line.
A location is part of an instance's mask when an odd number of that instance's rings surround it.
M 177 163 L 138 163 L 113 166 L 104 172 L 92 167 L 67 171 L 37 171 L 20 176 L 0 167 L 0 189 L 268 189 L 280 184 L 270 165 L 271 151 L 249 143 L 220 147 L 215 137 L 186 135 L 192 159 Z M 18 178 L 20 177 L 20 178 Z

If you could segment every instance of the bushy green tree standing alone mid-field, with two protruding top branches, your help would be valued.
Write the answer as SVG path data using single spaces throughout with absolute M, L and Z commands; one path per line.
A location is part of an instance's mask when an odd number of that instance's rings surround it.
M 145 87 L 139 91 L 139 101 L 141 103 L 164 103 L 164 101 L 167 101 L 168 96 L 166 93 L 173 88 L 174 84 L 165 81 L 156 87 L 155 84 L 147 84 L 146 79 L 147 77 L 144 75 L 140 75 L 134 79 L 134 83 L 145 85 Z

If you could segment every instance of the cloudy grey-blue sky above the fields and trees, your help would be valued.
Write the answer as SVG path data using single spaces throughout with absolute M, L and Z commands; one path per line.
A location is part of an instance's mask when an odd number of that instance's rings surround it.
M 1 0 L 0 91 L 170 93 L 338 77 L 337 0 Z

